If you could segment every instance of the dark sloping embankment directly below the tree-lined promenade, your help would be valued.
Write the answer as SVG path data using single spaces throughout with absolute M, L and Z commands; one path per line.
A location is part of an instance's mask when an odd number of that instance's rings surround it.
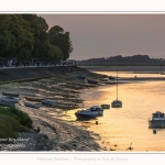
M 76 66 L 0 68 L 0 82 L 57 76 L 82 70 Z

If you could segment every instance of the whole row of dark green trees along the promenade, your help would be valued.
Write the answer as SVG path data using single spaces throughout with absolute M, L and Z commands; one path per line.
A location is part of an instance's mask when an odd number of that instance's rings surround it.
M 59 25 L 48 29 L 36 14 L 0 14 L 1 59 L 59 62 L 72 52 L 69 32 Z

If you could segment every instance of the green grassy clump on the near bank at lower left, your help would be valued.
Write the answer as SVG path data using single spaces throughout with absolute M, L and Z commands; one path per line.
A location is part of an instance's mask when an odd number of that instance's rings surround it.
M 29 114 L 16 108 L 0 108 L 0 139 L 19 138 L 16 132 L 29 131 L 32 123 Z

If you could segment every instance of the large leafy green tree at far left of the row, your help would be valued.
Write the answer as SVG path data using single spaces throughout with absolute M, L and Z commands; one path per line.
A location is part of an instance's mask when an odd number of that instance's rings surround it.
M 1 57 L 26 59 L 33 50 L 33 34 L 20 14 L 0 15 Z

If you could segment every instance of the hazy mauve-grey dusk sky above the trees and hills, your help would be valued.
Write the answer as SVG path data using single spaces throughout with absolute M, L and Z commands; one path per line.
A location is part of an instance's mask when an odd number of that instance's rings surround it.
M 165 58 L 165 13 L 44 13 L 48 26 L 69 32 L 69 59 L 148 55 Z

